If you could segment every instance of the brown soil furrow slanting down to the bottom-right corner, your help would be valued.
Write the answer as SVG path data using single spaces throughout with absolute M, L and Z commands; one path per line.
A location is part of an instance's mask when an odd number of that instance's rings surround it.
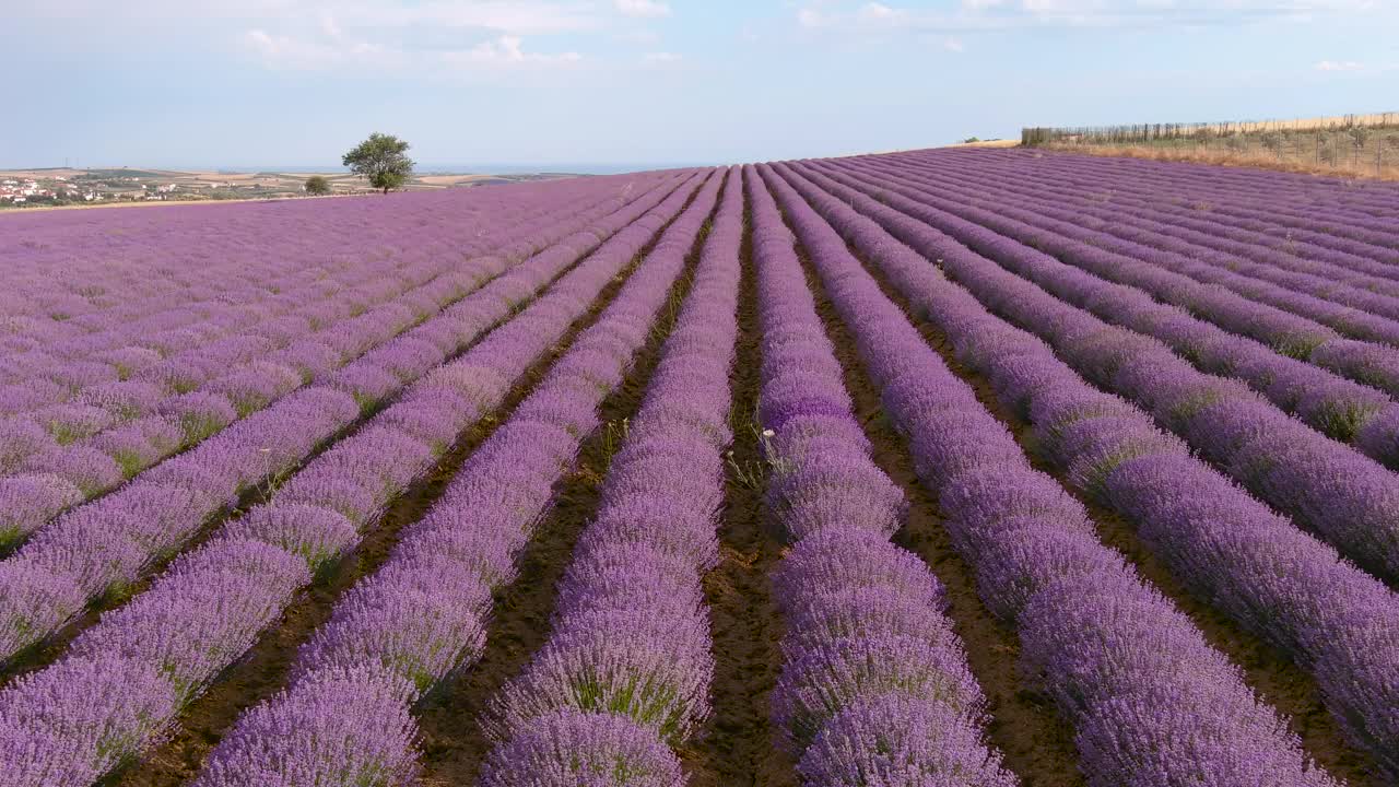
M 912 314 L 908 301 L 883 277 L 879 266 L 865 259 L 856 249 L 851 253 L 874 276 L 881 290 L 905 315 Z M 972 386 L 978 401 L 1014 434 L 1021 450 L 1035 469 L 1055 478 L 1066 492 L 1080 500 L 1097 525 L 1098 538 L 1122 552 L 1151 585 L 1161 591 L 1199 627 L 1206 641 L 1223 651 L 1242 668 L 1245 682 L 1276 707 L 1288 727 L 1301 738 L 1302 748 L 1330 774 L 1351 787 L 1384 787 L 1384 780 L 1370 755 L 1350 746 L 1336 720 L 1325 709 L 1316 681 L 1281 651 L 1248 633 L 1224 613 L 1193 595 L 1170 569 L 1137 538 L 1136 529 L 1116 513 L 1077 494 L 1039 451 L 1034 426 L 1007 410 L 996 399 L 990 384 L 978 372 L 963 365 L 947 336 L 926 319 L 909 318 L 923 339 L 942 356 L 943 361 L 963 381 Z M 1007 755 L 1009 759 L 1009 755 Z

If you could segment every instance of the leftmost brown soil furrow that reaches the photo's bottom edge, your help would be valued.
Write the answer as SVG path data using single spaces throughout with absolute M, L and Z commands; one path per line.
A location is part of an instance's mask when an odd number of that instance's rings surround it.
M 311 588 L 299 594 L 283 619 L 269 627 L 253 648 L 227 669 L 201 697 L 190 703 L 168 742 L 148 753 L 141 762 L 115 773 L 106 783 L 120 787 L 155 787 L 180 784 L 192 779 L 208 752 L 218 745 L 218 741 L 245 709 L 285 686 L 297 658 L 297 648 L 311 637 L 316 627 L 329 620 L 341 594 L 361 578 L 376 571 L 388 560 L 397 543 L 399 532 L 431 508 L 467 457 L 499 424 L 508 420 L 519 402 L 534 389 L 574 339 L 597 319 L 621 290 L 639 259 L 639 256 L 634 259 L 607 283 L 589 309 L 574 321 L 564 336 L 526 370 L 499 408 L 459 436 L 457 443 L 439 458 L 431 475 L 411 485 L 390 504 L 381 524 L 367 534 L 353 553 L 337 563 L 327 577 L 318 578 Z M 575 265 L 568 266 L 547 287 L 567 276 L 567 272 L 572 270 Z M 512 315 L 525 308 L 527 304 L 520 304 Z

